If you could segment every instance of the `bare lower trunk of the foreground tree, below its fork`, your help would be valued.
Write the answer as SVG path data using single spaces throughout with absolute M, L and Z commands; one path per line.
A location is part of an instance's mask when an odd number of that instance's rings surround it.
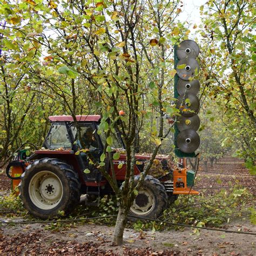
M 116 226 L 114 227 L 114 237 L 113 237 L 114 245 L 123 244 L 123 234 L 124 234 L 124 228 L 126 224 L 126 216 L 127 216 L 127 210 L 124 208 L 124 206 L 122 206 L 122 204 L 120 204 Z

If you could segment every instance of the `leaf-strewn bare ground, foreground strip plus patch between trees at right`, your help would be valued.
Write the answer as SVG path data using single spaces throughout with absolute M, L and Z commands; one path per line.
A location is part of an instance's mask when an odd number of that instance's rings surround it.
M 204 173 L 213 172 L 213 173 Z M 215 174 L 215 173 L 223 174 Z M 225 175 L 225 174 L 232 175 Z M 241 176 L 245 174 L 245 176 Z M 250 177 L 242 162 L 232 157 L 220 159 L 213 167 L 201 165 L 196 187 L 225 187 L 234 184 L 252 186 L 248 189 L 255 195 L 255 177 Z M 0 180 L 1 181 L 1 180 Z M 4 179 L 2 187 L 8 183 Z M 200 189 L 199 189 L 200 191 Z M 206 195 L 216 190 L 201 190 Z M 3 192 L 3 190 L 2 190 Z M 255 201 L 254 201 L 255 203 Z M 252 202 L 253 205 L 253 202 Z M 254 204 L 255 205 L 255 204 Z M 0 220 L 8 221 L 5 215 Z M 9 219 L 11 220 L 11 219 Z M 17 220 L 18 221 L 18 220 Z M 224 225 L 226 230 L 256 233 L 256 226 L 248 218 L 233 220 Z M 0 254 L 82 254 L 82 255 L 256 255 L 256 236 L 249 234 L 225 233 L 192 228 L 165 230 L 161 232 L 137 232 L 126 228 L 124 245 L 112 246 L 113 226 L 77 224 L 66 230 L 53 232 L 42 224 L 1 225 Z

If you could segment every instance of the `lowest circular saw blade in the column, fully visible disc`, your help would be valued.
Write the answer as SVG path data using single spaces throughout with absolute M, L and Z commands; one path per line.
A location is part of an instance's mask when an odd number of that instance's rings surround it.
M 192 129 L 183 130 L 177 136 L 177 146 L 184 153 L 193 153 L 199 145 L 199 135 Z

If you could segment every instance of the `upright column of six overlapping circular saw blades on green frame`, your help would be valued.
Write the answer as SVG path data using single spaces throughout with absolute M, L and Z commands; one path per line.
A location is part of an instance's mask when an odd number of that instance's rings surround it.
M 175 125 L 174 152 L 178 157 L 195 157 L 194 152 L 200 145 L 197 133 L 200 126 L 200 83 L 197 79 L 200 67 L 196 59 L 199 52 L 198 44 L 192 40 L 184 40 L 174 49 L 174 68 L 177 71 L 174 97 L 177 98 L 176 107 L 180 110 Z

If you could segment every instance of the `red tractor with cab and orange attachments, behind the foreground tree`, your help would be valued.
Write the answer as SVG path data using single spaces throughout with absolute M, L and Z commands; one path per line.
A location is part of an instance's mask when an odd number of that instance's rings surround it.
M 71 212 L 79 203 L 81 195 L 86 194 L 86 202 L 90 204 L 90 198 L 113 193 L 100 170 L 89 160 L 93 157 L 99 161 L 103 153 L 104 134 L 97 132 L 100 116 L 77 116 L 78 126 L 75 126 L 71 116 L 52 116 L 49 119 L 51 127 L 42 149 L 36 150 L 29 157 L 26 157 L 24 151 L 19 151 L 6 169 L 6 174 L 13 179 L 14 185 L 21 181 L 18 189 L 26 209 L 35 217 L 43 219 L 58 215 L 59 211 Z M 120 134 L 116 132 L 112 134 L 112 138 L 113 153 L 114 149 L 125 152 Z M 82 144 L 86 146 L 86 150 L 81 150 Z M 78 151 L 79 154 L 76 153 Z M 134 175 L 140 174 L 149 158 L 150 156 L 136 155 Z M 191 190 L 193 171 L 185 168 L 169 170 L 167 158 L 157 159 L 165 174 L 158 179 L 146 176 L 130 209 L 130 214 L 134 216 L 156 218 L 166 208 L 169 199 L 175 199 L 178 194 L 198 194 Z M 125 153 L 121 153 L 118 160 L 113 160 L 120 186 L 125 178 L 125 161 Z M 105 159 L 105 168 L 112 173 L 108 158 Z M 84 170 L 90 171 L 85 173 Z M 22 173 L 21 177 L 18 173 Z

